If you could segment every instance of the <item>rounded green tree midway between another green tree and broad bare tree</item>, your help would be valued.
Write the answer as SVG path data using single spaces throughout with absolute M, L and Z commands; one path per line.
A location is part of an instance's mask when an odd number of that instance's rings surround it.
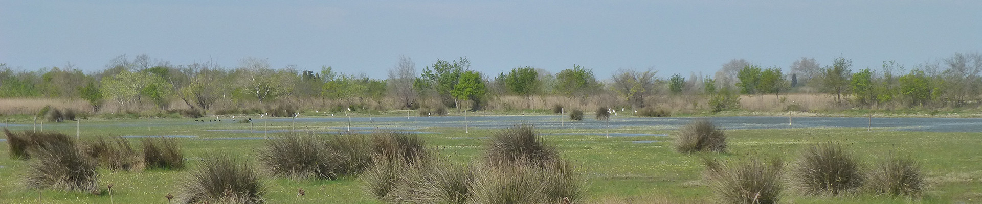
M 566 97 L 586 98 L 601 88 L 600 82 L 593 77 L 593 71 L 573 65 L 573 69 L 560 71 L 556 75 L 553 91 Z

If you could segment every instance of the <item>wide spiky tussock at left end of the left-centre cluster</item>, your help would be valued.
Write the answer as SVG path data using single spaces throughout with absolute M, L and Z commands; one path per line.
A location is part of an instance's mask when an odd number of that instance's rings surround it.
M 283 178 L 338 178 L 344 158 L 316 135 L 287 132 L 267 139 L 256 152 L 262 168 Z

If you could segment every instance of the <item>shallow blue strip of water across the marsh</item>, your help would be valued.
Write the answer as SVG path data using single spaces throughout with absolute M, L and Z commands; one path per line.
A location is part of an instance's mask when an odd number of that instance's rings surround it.
M 663 128 L 677 129 L 693 120 L 708 119 L 728 129 L 759 128 L 888 128 L 909 131 L 982 132 L 982 119 L 925 118 L 789 118 L 787 117 L 705 117 L 705 118 L 636 118 L 614 117 L 609 122 L 586 119 L 560 121 L 560 116 L 481 116 L 467 117 L 469 128 L 509 128 L 531 125 L 536 128 Z M 411 128 L 464 128 L 464 117 L 387 117 L 352 118 L 353 126 L 395 126 Z M 289 122 L 290 119 L 269 119 Z M 300 123 L 348 122 L 347 118 L 300 118 Z M 373 122 L 373 123 L 372 123 Z M 353 127 L 355 128 L 355 127 Z M 359 127 L 364 128 L 364 127 Z

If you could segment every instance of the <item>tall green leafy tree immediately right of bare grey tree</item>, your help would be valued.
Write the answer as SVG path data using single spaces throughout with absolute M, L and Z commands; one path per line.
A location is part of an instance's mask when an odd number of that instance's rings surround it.
M 437 59 L 436 63 L 432 66 L 426 66 L 423 69 L 421 77 L 433 85 L 433 89 L 436 90 L 437 94 L 440 94 L 444 98 L 445 104 L 455 102 L 453 105 L 456 107 L 456 100 L 451 101 L 447 99 L 453 99 L 451 91 L 456 89 L 457 83 L 461 81 L 461 75 L 469 69 L 470 61 L 467 61 L 467 58 L 464 57 L 454 62 Z

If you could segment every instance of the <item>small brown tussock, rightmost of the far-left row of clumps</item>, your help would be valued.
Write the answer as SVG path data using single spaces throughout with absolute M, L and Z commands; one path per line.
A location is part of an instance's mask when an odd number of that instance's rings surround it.
M 184 153 L 177 139 L 151 137 L 144 138 L 142 144 L 143 164 L 147 169 L 184 169 Z

